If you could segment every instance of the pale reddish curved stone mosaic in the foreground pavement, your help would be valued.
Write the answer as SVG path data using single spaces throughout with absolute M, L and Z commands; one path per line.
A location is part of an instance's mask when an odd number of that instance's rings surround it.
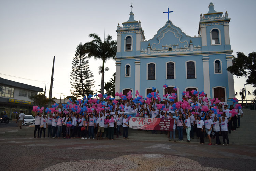
M 43 171 L 61 170 L 122 170 L 122 171 L 167 171 L 167 170 L 225 170 L 220 168 L 203 167 L 200 163 L 171 155 L 161 154 L 131 154 L 112 160 L 80 160 L 60 163 Z

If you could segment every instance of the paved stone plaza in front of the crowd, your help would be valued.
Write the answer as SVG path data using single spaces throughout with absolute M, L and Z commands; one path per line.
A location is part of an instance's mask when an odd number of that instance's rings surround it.
M 255 170 L 256 146 L 0 137 L 0 170 Z M 23 129 L 27 129 L 23 127 Z M 31 133 L 31 132 L 28 132 Z

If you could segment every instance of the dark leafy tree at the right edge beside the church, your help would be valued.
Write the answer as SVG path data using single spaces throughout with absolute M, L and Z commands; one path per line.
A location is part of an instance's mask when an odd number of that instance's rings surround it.
M 249 53 L 248 56 L 243 52 L 237 52 L 237 57 L 233 56 L 233 65 L 227 70 L 237 77 L 245 76 L 246 84 L 256 87 L 256 52 Z

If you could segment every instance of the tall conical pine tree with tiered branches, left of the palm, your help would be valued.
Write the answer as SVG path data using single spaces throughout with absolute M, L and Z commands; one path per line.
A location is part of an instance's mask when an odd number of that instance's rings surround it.
M 89 61 L 85 60 L 85 50 L 83 48 L 83 44 L 80 42 L 76 47 L 75 56 L 73 57 L 72 62 L 72 72 L 71 76 L 71 94 L 76 97 L 84 97 L 89 94 L 93 94 L 91 90 L 94 87 L 93 74 L 90 71 Z

